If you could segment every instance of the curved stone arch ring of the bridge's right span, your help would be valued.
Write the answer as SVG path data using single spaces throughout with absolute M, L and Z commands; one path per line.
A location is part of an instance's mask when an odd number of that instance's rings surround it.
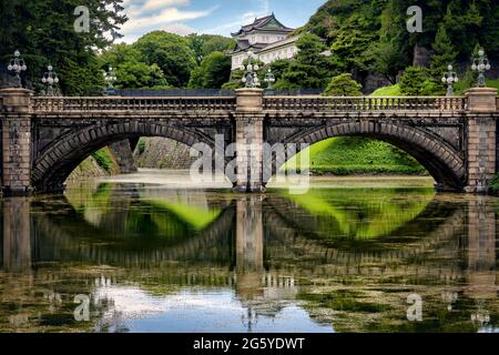
M 283 143 L 314 144 L 337 136 L 370 136 L 390 143 L 415 158 L 437 182 L 440 190 L 461 191 L 466 185 L 465 158 L 437 134 L 403 123 L 355 121 L 320 125 L 301 131 Z M 289 159 L 291 156 L 287 156 Z M 277 156 L 275 161 L 285 161 Z M 279 169 L 274 164 L 275 171 Z

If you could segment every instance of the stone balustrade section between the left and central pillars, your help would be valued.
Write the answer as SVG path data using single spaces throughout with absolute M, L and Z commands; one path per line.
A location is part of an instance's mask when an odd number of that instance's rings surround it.
M 33 98 L 33 113 L 108 112 L 108 111 L 234 111 L 232 97 L 176 97 L 176 98 Z

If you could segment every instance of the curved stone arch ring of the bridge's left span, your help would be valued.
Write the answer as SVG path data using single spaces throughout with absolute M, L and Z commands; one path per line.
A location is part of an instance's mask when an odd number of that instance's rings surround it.
M 71 172 L 90 154 L 129 138 L 161 136 L 172 139 L 187 146 L 205 143 L 213 148 L 214 141 L 202 131 L 177 128 L 169 122 L 136 120 L 90 125 L 62 135 L 52 142 L 34 160 L 31 182 L 35 191 L 53 192 L 63 190 L 64 181 Z

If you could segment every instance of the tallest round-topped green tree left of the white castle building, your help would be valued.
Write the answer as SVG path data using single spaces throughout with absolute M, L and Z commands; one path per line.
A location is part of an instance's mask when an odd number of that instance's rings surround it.
M 134 47 L 147 64 L 157 64 L 161 68 L 171 85 L 187 85 L 196 61 L 185 38 L 165 31 L 153 31 L 141 37 Z

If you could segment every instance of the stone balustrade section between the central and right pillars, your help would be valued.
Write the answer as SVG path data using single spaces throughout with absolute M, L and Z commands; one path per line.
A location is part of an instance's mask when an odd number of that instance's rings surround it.
M 271 111 L 464 111 L 465 97 L 266 97 Z

